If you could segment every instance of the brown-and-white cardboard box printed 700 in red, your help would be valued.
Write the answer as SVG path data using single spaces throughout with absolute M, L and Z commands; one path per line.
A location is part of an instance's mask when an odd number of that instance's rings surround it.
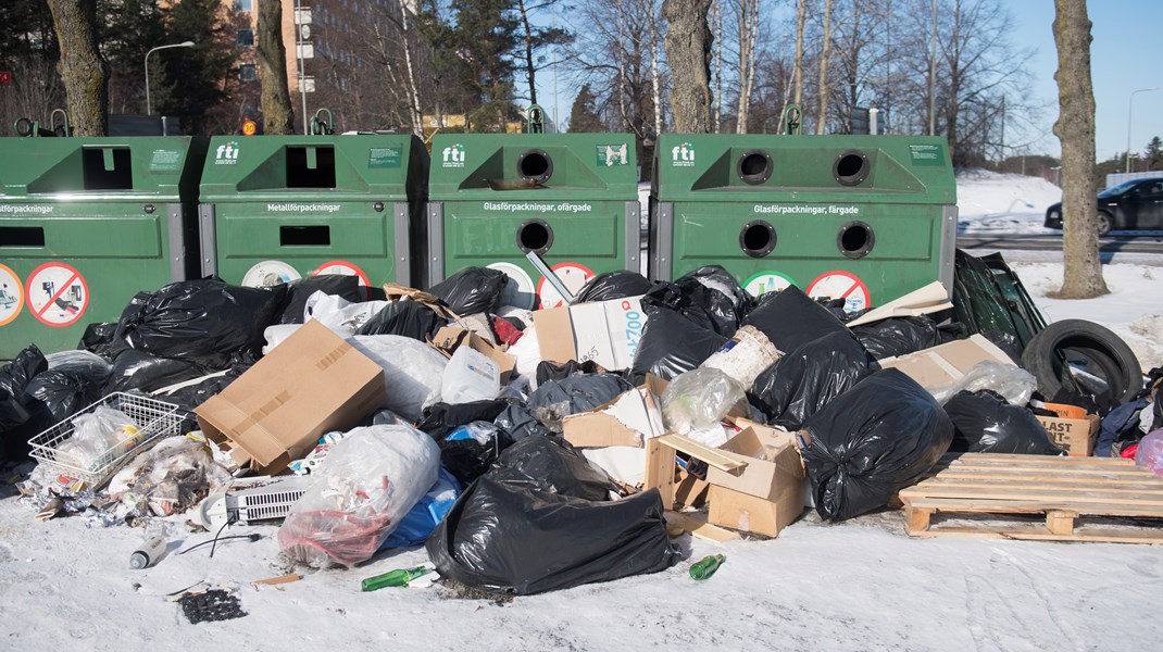
M 640 299 L 611 299 L 533 313 L 541 358 L 554 363 L 593 360 L 611 371 L 630 368 L 647 323 Z

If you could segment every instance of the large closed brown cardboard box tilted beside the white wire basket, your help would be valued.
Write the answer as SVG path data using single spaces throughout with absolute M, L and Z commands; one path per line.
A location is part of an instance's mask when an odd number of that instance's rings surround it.
M 194 414 L 240 466 L 273 475 L 321 435 L 355 427 L 384 400 L 384 370 L 309 321 Z

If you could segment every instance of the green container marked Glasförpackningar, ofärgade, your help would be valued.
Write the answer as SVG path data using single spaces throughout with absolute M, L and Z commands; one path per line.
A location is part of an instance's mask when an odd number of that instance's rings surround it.
M 428 270 L 435 284 L 465 267 L 515 281 L 502 302 L 554 307 L 595 274 L 640 271 L 637 158 L 630 134 L 456 134 L 433 141 Z

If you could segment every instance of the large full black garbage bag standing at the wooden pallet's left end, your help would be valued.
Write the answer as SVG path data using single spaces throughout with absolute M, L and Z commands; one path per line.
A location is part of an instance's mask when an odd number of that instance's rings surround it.
M 815 413 L 804 449 L 825 521 L 887 504 L 933 468 L 952 442 L 952 422 L 933 395 L 899 370 L 882 370 Z

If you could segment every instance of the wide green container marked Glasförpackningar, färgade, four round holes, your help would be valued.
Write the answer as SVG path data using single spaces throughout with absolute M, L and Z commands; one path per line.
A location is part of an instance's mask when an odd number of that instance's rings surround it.
M 752 295 L 794 284 L 856 310 L 952 289 L 957 186 L 929 136 L 664 135 L 650 274 L 727 268 Z

